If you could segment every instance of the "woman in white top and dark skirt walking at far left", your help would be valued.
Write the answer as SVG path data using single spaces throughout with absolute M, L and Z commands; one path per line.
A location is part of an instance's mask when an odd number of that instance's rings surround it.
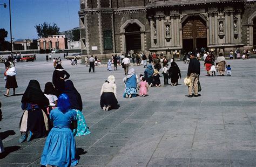
M 5 83 L 5 88 L 6 89 L 6 94 L 4 96 L 8 97 L 10 88 L 14 89 L 14 95 L 15 95 L 15 89 L 18 87 L 17 81 L 16 81 L 16 68 L 12 62 L 8 61 L 8 66 L 7 69 L 4 73 L 4 78 L 6 80 Z

